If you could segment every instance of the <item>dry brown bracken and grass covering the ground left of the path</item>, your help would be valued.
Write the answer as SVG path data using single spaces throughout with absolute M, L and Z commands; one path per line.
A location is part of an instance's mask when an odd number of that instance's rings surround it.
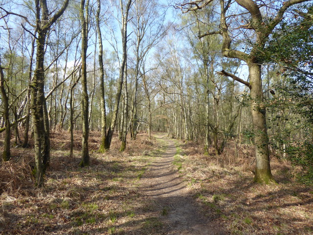
M 121 153 L 114 136 L 105 154 L 97 153 L 99 133 L 91 132 L 89 141 L 90 166 L 81 168 L 81 133 L 71 158 L 68 133 L 51 134 L 44 188 L 34 186 L 32 148 L 12 148 L 12 160 L 0 165 L 0 234 L 158 234 L 160 222 L 138 189 L 157 141 L 138 134 Z

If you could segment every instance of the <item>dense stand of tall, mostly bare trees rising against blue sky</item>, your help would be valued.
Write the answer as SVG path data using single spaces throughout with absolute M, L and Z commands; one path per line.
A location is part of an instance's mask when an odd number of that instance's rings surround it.
M 270 152 L 312 180 L 312 3 L 174 8 L 157 0 L 1 1 L 3 161 L 13 136 L 21 147 L 31 136 L 42 186 L 52 130 L 69 130 L 70 156 L 73 131 L 82 130 L 81 166 L 89 165 L 90 130 L 101 131 L 100 152 L 114 132 L 124 151 L 127 135 L 162 131 L 202 142 L 205 154 L 222 154 L 228 141 L 254 145 L 259 183 L 275 182 Z

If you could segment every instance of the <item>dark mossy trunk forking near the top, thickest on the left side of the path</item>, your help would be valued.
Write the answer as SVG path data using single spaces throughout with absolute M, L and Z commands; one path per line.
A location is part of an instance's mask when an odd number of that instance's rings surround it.
M 34 126 L 36 185 L 43 186 L 46 164 L 49 160 L 49 123 L 46 122 L 45 106 L 45 41 L 52 24 L 64 13 L 69 0 L 53 16 L 48 10 L 46 0 L 36 1 L 36 69 L 31 82 L 31 111 Z M 50 17 L 51 16 L 51 17 Z M 50 18 L 49 18 L 50 17 Z M 46 115 L 44 115 L 44 112 Z

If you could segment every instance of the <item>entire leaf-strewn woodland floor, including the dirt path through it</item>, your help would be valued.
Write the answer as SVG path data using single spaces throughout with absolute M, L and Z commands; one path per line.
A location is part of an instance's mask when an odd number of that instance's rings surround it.
M 276 158 L 278 184 L 254 184 L 250 145 L 205 156 L 201 144 L 139 134 L 125 152 L 114 137 L 100 154 L 91 132 L 91 163 L 81 168 L 80 139 L 70 158 L 68 133 L 51 134 L 44 188 L 34 187 L 32 148 L 12 149 L 0 165 L 0 234 L 313 235 L 313 188 Z

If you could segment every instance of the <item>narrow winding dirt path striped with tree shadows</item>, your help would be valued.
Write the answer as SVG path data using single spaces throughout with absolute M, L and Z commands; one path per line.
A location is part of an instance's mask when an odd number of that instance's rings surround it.
M 143 178 L 143 193 L 156 203 L 156 211 L 167 226 L 167 235 L 226 235 L 218 226 L 201 215 L 200 208 L 193 203 L 185 182 L 173 167 L 176 147 L 165 135 L 156 136 L 168 144 L 164 154 L 156 156 Z

